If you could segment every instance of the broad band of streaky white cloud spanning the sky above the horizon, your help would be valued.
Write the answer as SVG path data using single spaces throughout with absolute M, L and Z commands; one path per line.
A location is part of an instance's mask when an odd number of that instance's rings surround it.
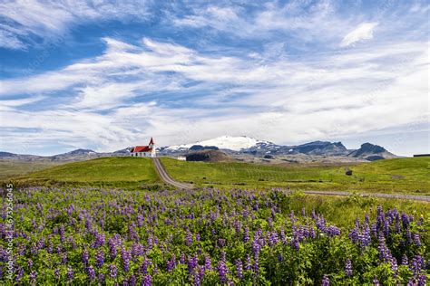
M 167 145 L 244 132 L 294 143 L 405 125 L 428 112 L 426 43 L 260 62 L 264 52 L 254 58 L 207 55 L 151 39 L 140 46 L 105 40 L 106 51 L 94 59 L 0 81 L 3 96 L 64 94 L 61 104 L 41 110 L 19 108 L 31 97 L 6 104 L 1 128 L 24 131 L 2 136 L 17 146 L 27 138 L 43 144 L 49 137 L 99 150 L 132 146 L 149 136 Z M 186 87 L 189 81 L 197 83 Z M 179 92 L 179 100 L 158 95 L 156 104 L 148 102 L 154 92 L 171 91 Z M 198 96 L 184 101 L 187 91 Z

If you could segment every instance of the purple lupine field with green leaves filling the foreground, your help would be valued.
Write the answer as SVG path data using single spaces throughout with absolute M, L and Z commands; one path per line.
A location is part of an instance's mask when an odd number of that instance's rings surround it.
M 294 212 L 280 190 L 26 188 L 14 201 L 12 281 L 5 216 L 0 224 L 5 285 L 425 285 L 430 278 L 429 218 L 381 206 L 339 228 L 312 209 Z

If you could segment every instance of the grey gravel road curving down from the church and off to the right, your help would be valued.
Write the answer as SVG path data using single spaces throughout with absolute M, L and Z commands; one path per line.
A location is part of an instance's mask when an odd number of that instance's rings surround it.
M 167 174 L 166 169 L 161 165 L 160 159 L 158 157 L 153 158 L 154 166 L 157 170 L 157 173 L 161 177 L 161 180 L 171 186 L 178 187 L 180 189 L 186 189 L 191 190 L 192 184 L 188 183 L 181 183 L 178 181 L 175 181 L 174 179 Z M 351 195 L 351 193 L 348 192 L 319 192 L 319 191 L 305 191 L 303 192 L 308 195 Z M 396 199 L 403 199 L 403 200 L 414 200 L 414 201 L 423 201 L 423 202 L 430 202 L 430 195 L 395 195 L 395 194 L 380 194 L 380 193 L 364 193 L 364 194 L 358 194 L 361 196 L 376 196 L 376 197 L 383 197 L 383 198 L 396 198 Z

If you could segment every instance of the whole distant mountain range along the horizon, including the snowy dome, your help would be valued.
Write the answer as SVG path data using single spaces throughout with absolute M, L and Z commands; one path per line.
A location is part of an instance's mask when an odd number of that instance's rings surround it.
M 250 138 L 247 136 L 230 137 L 221 136 L 201 140 L 190 144 L 172 145 L 157 148 L 157 152 L 161 156 L 182 156 L 196 151 L 202 150 L 218 150 L 225 152 L 230 156 L 324 156 L 324 157 L 351 157 L 362 158 L 366 160 L 376 160 L 383 158 L 396 157 L 378 145 L 371 143 L 363 143 L 358 149 L 347 149 L 342 142 L 330 141 L 312 141 L 300 145 L 278 145 L 267 140 Z M 96 152 L 93 149 L 78 148 L 72 151 L 57 154 L 54 156 L 37 156 L 37 155 L 20 155 L 10 152 L 0 152 L 0 159 L 18 159 L 18 160 L 51 160 L 51 161 L 67 161 L 79 160 L 96 157 L 113 157 L 113 156 L 128 156 L 131 148 L 123 148 L 113 152 Z

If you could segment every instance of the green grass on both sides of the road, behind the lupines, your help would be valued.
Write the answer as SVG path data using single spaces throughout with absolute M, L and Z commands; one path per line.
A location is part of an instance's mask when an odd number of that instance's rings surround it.
M 162 157 L 168 173 L 178 181 L 195 186 L 222 188 L 287 187 L 293 190 L 365 191 L 430 195 L 430 158 L 396 158 L 352 165 L 352 176 L 345 166 L 273 166 L 249 163 L 185 162 Z M 15 164 L 15 163 L 14 163 Z M 46 167 L 34 165 L 34 168 Z M 30 167 L 19 164 L 7 169 L 24 173 Z M 15 171 L 14 171 L 15 168 Z M 15 176 L 23 185 L 89 185 L 134 187 L 159 182 L 149 158 L 103 157 L 45 168 Z

